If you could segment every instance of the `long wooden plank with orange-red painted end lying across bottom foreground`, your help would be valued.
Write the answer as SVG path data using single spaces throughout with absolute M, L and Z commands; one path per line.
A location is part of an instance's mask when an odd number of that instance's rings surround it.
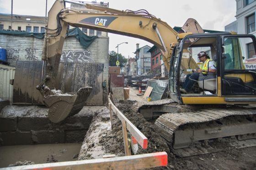
M 167 153 L 156 152 L 151 154 L 121 156 L 115 158 L 101 158 L 94 160 L 77 160 L 55 162 L 47 164 L 23 165 L 7 167 L 6 170 L 140 170 L 167 166 Z

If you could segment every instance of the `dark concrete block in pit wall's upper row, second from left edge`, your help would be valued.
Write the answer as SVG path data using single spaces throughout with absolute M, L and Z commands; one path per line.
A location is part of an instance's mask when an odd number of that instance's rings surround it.
M 48 130 L 50 120 L 47 117 L 19 117 L 18 130 Z

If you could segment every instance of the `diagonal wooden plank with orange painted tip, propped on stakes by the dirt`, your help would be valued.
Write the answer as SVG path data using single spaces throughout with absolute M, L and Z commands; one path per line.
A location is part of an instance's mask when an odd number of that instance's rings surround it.
M 143 135 L 143 133 L 141 133 L 141 131 L 139 131 L 136 126 L 134 126 L 132 124 L 132 122 L 130 122 L 130 120 L 128 120 L 123 113 L 117 109 L 117 107 L 115 105 L 113 105 L 112 101 L 110 100 L 110 98 L 108 98 L 108 102 L 111 104 L 111 108 L 112 110 L 115 112 L 115 114 L 117 115 L 117 117 L 122 121 L 125 120 L 126 122 L 126 127 L 127 130 L 135 137 L 135 139 L 138 141 L 139 145 L 141 145 L 141 147 L 143 149 L 147 149 L 148 147 L 148 138 Z

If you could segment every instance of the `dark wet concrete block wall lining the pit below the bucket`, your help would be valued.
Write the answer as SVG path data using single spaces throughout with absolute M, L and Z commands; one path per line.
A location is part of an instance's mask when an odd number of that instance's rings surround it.
M 8 105 L 0 113 L 0 146 L 82 142 L 94 113 L 84 108 L 52 123 L 43 106 Z

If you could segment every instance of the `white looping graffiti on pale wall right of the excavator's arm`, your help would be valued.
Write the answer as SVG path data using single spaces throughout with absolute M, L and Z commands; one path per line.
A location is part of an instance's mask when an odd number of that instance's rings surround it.
M 63 50 L 60 60 L 64 62 L 81 62 L 81 63 L 95 62 L 94 59 L 91 58 L 91 51 L 89 50 L 69 50 L 68 52 Z

